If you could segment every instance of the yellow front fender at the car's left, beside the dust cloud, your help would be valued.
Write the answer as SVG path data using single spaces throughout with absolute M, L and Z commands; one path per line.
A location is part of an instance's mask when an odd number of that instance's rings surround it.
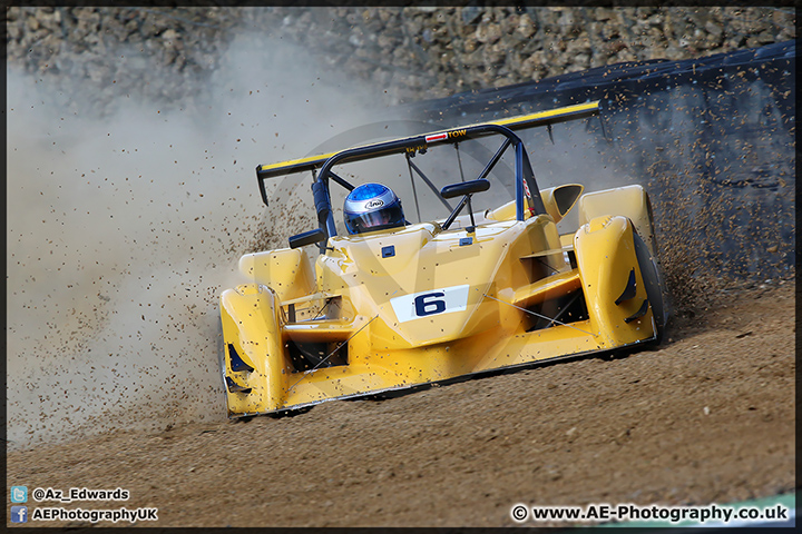
M 221 295 L 225 384 L 229 414 L 284 404 L 291 364 L 283 350 L 281 307 L 266 286 L 243 284 Z

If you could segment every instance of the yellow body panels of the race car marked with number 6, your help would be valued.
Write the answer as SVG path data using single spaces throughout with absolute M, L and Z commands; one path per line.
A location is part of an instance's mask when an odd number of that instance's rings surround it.
M 221 296 L 229 415 L 654 339 L 635 250 L 635 233 L 653 248 L 646 192 L 568 187 L 541 191 L 547 214 L 515 220 L 502 206 L 475 233 L 415 224 L 331 237 L 314 260 L 301 249 L 244 256 L 251 283 Z M 575 204 L 580 227 L 560 236 L 555 219 Z M 549 320 L 573 297 L 581 313 Z M 299 352 L 326 358 L 304 368 Z

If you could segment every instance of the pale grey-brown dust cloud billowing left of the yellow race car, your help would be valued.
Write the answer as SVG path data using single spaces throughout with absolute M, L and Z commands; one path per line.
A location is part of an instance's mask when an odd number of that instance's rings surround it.
M 217 296 L 276 224 L 254 168 L 364 123 L 372 93 L 260 36 L 221 65 L 202 109 L 120 93 L 102 119 L 9 67 L 8 448 L 225 417 Z

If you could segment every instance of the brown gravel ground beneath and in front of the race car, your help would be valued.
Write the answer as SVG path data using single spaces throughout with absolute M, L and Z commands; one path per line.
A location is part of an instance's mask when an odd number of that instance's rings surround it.
M 333 402 L 294 417 L 13 452 L 7 482 L 123 487 L 125 503 L 63 507 L 158 507 L 158 523 L 140 526 L 497 526 L 515 524 L 516 503 L 678 505 L 788 493 L 793 283 L 722 301 L 677 319 L 658 350 Z

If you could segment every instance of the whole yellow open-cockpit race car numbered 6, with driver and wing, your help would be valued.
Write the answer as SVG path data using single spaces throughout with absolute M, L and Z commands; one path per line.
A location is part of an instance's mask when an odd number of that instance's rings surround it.
M 659 343 L 646 191 L 539 189 L 514 131 L 598 113 L 589 102 L 257 167 L 265 204 L 266 179 L 310 172 L 319 227 L 243 256 L 251 281 L 221 296 L 229 416 Z M 560 235 L 571 208 L 578 229 Z

